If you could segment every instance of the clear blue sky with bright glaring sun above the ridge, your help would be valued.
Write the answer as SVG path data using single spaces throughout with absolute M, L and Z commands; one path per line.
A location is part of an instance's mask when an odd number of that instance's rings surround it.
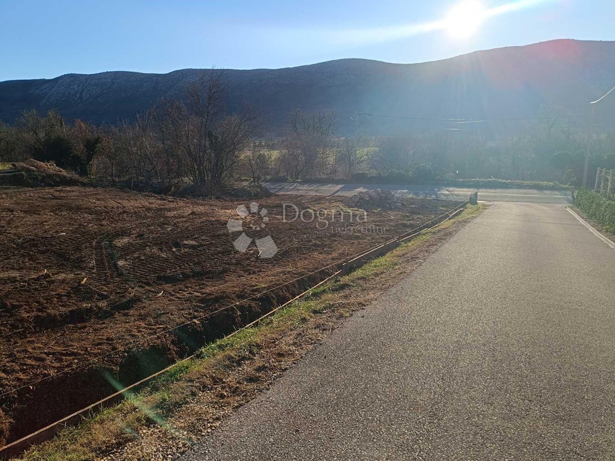
M 614 17 L 613 0 L 0 0 L 0 81 L 417 63 L 558 38 L 615 40 Z

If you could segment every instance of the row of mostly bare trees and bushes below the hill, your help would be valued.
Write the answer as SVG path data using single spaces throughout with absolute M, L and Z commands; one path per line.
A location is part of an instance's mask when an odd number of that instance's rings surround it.
M 423 183 L 498 178 L 578 184 L 588 147 L 590 171 L 615 168 L 613 133 L 588 139 L 561 109 L 547 109 L 515 133 L 402 130 L 362 138 L 341 135 L 335 112 L 297 110 L 284 135 L 263 139 L 261 114 L 250 106 L 229 114 L 225 91 L 222 74 L 212 73 L 189 84 L 183 98 L 162 99 L 116 125 L 25 111 L 14 124 L 0 124 L 0 161 L 34 158 L 112 182 L 188 180 L 199 186 L 237 177 L 258 182 L 369 175 Z

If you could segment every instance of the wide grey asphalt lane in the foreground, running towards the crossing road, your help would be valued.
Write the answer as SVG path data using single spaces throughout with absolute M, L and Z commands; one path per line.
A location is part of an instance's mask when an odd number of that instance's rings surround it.
M 613 460 L 615 251 L 498 202 L 184 460 Z

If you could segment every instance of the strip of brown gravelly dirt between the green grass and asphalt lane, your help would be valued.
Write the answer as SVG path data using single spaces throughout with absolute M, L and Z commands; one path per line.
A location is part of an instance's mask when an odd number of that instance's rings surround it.
M 389 253 L 394 266 L 374 270 L 359 283 L 341 279 L 338 289 L 317 298 L 313 315 L 284 325 L 284 320 L 274 322 L 252 341 L 205 359 L 168 387 L 143 390 L 138 405 L 124 402 L 87 427 L 74 432 L 69 428 L 26 459 L 52 459 L 62 453 L 66 459 L 156 461 L 188 451 L 292 368 L 346 317 L 366 309 L 389 286 L 407 277 L 466 223 L 465 219 L 450 222 L 429 240 Z

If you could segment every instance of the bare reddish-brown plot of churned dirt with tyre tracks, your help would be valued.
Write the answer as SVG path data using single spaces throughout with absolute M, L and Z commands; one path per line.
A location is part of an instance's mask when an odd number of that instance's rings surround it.
M 394 211 L 368 211 L 365 222 L 357 223 L 355 212 L 349 223 L 346 212 L 345 223 L 338 215 L 326 229 L 317 219 L 284 222 L 284 203 L 328 210 L 331 221 L 331 210 L 346 209 L 339 200 L 270 197 L 259 200 L 266 215 L 242 219 L 237 207 L 250 211 L 250 200 L 87 187 L 0 189 L 0 394 L 38 381 L 0 397 L 0 445 L 148 376 L 327 274 L 214 316 L 219 309 L 341 262 L 457 205 L 405 200 Z M 287 207 L 287 221 L 295 214 Z M 241 220 L 248 237 L 271 235 L 275 256 L 260 258 L 254 241 L 237 251 L 241 231 L 230 232 L 229 220 Z

